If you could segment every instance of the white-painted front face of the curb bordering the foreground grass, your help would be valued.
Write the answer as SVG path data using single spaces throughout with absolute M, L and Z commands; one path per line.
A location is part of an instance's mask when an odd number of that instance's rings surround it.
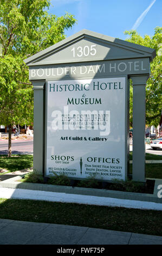
M 5 194 L 5 197 L 3 196 Z M 85 196 L 81 194 L 68 194 L 49 191 L 35 191 L 21 188 L 0 188 L 0 198 L 46 200 L 60 203 L 89 204 L 111 207 L 133 208 L 141 210 L 162 211 L 162 204 L 141 202 L 139 200 L 126 200 L 109 197 Z

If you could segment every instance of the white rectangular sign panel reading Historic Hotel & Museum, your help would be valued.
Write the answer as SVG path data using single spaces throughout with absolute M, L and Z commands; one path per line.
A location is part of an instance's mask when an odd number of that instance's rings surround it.
M 46 175 L 125 180 L 125 77 L 49 81 Z

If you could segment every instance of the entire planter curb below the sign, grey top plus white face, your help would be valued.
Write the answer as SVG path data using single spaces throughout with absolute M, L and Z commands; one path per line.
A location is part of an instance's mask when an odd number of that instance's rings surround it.
M 0 197 L 162 210 L 162 198 L 158 198 L 156 193 L 142 194 L 17 181 L 21 178 L 22 176 L 16 176 L 1 181 Z M 155 191 L 156 182 L 159 184 L 159 180 L 155 180 Z

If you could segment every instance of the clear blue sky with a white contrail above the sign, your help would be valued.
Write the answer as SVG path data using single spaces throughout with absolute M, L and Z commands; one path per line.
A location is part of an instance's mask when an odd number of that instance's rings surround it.
M 51 5 L 49 13 L 75 16 L 77 24 L 65 31 L 67 36 L 88 29 L 125 40 L 125 31 L 153 36 L 162 25 L 162 0 L 51 0 Z

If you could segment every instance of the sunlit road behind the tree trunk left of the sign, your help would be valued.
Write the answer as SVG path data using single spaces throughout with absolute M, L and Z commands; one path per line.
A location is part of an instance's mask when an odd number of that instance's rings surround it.
M 33 154 L 33 140 L 11 142 L 12 154 Z M 0 155 L 8 154 L 8 140 L 0 141 Z

